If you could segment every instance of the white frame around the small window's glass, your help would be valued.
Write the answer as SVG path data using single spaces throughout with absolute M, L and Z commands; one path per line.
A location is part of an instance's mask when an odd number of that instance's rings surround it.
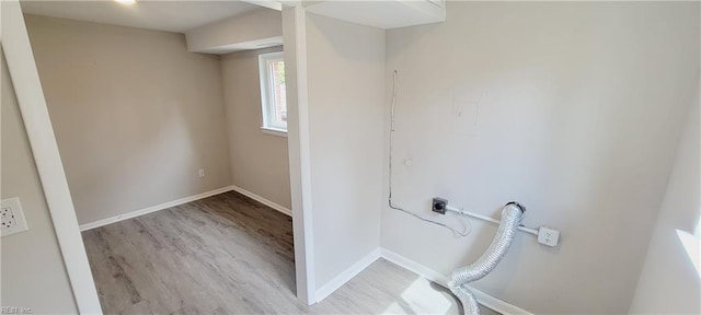
M 275 124 L 272 117 L 275 113 L 275 91 L 273 90 L 273 73 L 268 67 L 271 61 L 284 61 L 284 51 L 258 55 L 258 78 L 261 81 L 261 131 L 263 133 L 287 137 L 287 122 Z

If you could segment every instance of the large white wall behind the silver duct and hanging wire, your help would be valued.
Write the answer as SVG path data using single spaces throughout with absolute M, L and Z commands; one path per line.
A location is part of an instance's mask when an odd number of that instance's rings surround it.
M 450 2 L 447 12 L 446 23 L 387 34 L 386 86 L 400 73 L 394 201 L 457 226 L 429 212 L 432 197 L 496 218 L 522 202 L 526 225 L 562 230 L 560 247 L 519 233 L 474 287 L 533 313 L 628 312 L 698 89 L 699 3 Z M 459 238 L 386 208 L 381 245 L 449 275 L 495 232 L 472 225 Z

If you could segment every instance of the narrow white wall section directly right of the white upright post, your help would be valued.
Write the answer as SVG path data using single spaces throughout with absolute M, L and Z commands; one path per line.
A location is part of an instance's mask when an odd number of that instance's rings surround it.
M 384 31 L 307 15 L 317 288 L 379 247 Z

